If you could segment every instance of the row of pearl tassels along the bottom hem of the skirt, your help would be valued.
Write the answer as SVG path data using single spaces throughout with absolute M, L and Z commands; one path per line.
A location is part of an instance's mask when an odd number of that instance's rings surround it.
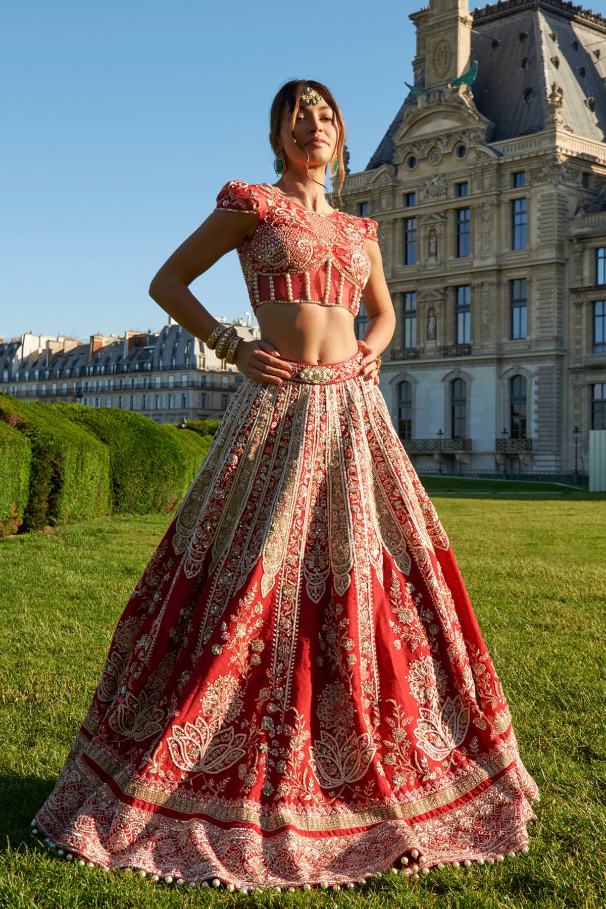
M 40 835 L 40 832 L 38 831 L 38 829 L 35 826 L 35 820 L 32 821 L 32 835 L 34 835 L 34 836 Z M 48 846 L 49 849 L 56 850 L 56 854 L 58 856 L 60 856 L 61 858 L 64 858 L 66 862 L 72 862 L 75 860 L 76 864 L 78 864 L 81 868 L 99 867 L 104 872 L 109 871 L 109 868 L 104 868 L 100 865 L 95 865 L 94 862 L 87 862 L 84 858 L 78 857 L 72 853 L 69 853 L 69 852 L 65 853 L 65 849 L 57 848 L 55 843 L 53 843 L 48 837 L 45 837 L 44 842 Z M 462 862 L 457 862 L 456 860 L 453 862 L 446 862 L 446 863 L 438 862 L 433 867 L 435 867 L 435 869 L 437 871 L 443 871 L 444 868 L 447 868 L 449 865 L 454 870 L 456 870 L 461 867 L 471 868 L 473 864 L 478 864 L 478 865 L 496 864 L 496 863 L 504 862 L 506 857 L 515 858 L 515 856 L 519 855 L 519 854 L 528 855 L 529 851 L 530 850 L 529 850 L 528 846 L 522 846 L 522 849 L 520 849 L 518 852 L 512 851 L 512 852 L 507 853 L 506 856 L 502 853 L 499 853 L 499 854 L 495 855 L 494 857 L 490 857 L 490 858 L 486 858 L 486 859 L 482 858 L 482 856 L 481 856 L 480 858 L 473 859 L 473 861 L 471 859 L 466 858 Z M 408 856 L 402 855 L 402 857 L 400 859 L 402 868 L 397 868 L 395 865 L 392 865 L 391 868 L 386 868 L 386 869 L 384 869 L 384 871 L 369 872 L 365 877 L 361 877 L 356 883 L 358 885 L 362 886 L 363 884 L 368 884 L 368 882 L 373 880 L 373 878 L 380 878 L 383 876 L 383 874 L 389 874 L 390 872 L 392 874 L 406 874 L 407 876 L 416 878 L 416 879 L 418 879 L 420 876 L 425 877 L 427 874 L 430 873 L 431 869 L 426 867 L 427 859 L 425 858 L 424 855 L 419 854 L 419 851 L 417 849 L 412 849 L 411 857 L 412 857 L 412 861 L 413 861 L 412 865 L 410 865 L 410 860 L 409 860 Z M 118 869 L 116 869 L 116 870 L 118 870 Z M 183 877 L 175 878 L 172 874 L 166 874 L 164 876 L 164 878 L 160 874 L 149 874 L 149 872 L 146 872 L 144 870 L 144 868 L 121 868 L 120 870 L 124 871 L 124 872 L 132 871 L 135 874 L 138 874 L 139 877 L 142 877 L 142 878 L 149 877 L 149 879 L 154 884 L 157 884 L 163 880 L 164 880 L 164 884 L 182 884 L 182 885 L 188 884 L 190 887 L 195 887 L 198 884 L 202 887 L 208 887 L 208 886 L 220 887 L 221 884 L 223 884 L 223 882 L 220 881 L 218 877 L 214 877 L 211 881 L 206 881 L 206 880 L 205 881 L 185 881 Z M 235 884 L 224 884 L 224 886 L 225 886 L 225 889 L 227 890 L 227 892 L 230 894 L 233 894 L 234 892 L 237 892 L 239 894 L 253 894 L 253 893 L 262 894 L 264 890 L 276 890 L 278 893 L 281 893 L 282 891 L 284 891 L 284 892 L 293 894 L 293 893 L 296 893 L 296 891 L 298 889 L 293 884 L 291 884 L 291 886 L 288 886 L 288 887 L 284 887 L 279 884 L 277 884 L 277 885 L 268 884 L 267 887 L 254 887 L 254 886 L 236 887 Z M 353 881 L 350 881 L 348 884 L 336 884 L 336 883 L 330 884 L 328 881 L 321 881 L 319 884 L 316 884 L 316 886 L 319 886 L 322 890 L 331 889 L 336 893 L 340 890 L 353 890 L 355 887 L 355 884 L 353 884 Z M 302 890 L 312 890 L 313 884 L 310 884 L 309 882 L 307 882 L 305 884 L 299 884 L 299 887 Z

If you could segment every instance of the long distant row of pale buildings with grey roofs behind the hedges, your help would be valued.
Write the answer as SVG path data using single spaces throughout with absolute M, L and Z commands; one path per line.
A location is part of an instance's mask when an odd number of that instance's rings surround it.
M 233 325 L 247 341 L 260 335 L 242 318 Z M 236 366 L 172 320 L 154 335 L 91 335 L 82 344 L 28 333 L 0 343 L 1 391 L 25 401 L 133 410 L 156 423 L 220 419 L 242 381 Z

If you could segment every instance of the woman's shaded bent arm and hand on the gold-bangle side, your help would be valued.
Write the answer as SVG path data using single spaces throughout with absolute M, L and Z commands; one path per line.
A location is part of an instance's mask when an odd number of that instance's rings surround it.
M 219 325 L 194 297 L 189 285 L 251 235 L 258 221 L 259 215 L 253 212 L 213 212 L 154 275 L 149 295 L 185 331 L 205 340 Z M 282 378 L 291 375 L 288 365 L 267 341 L 241 341 L 234 362 L 240 372 L 257 381 L 281 385 Z

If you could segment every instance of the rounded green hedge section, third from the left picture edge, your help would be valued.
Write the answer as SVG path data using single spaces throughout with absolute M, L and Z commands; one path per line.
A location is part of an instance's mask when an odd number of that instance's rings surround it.
M 181 500 L 185 455 L 172 435 L 149 417 L 116 407 L 53 406 L 108 446 L 114 512 L 170 512 Z

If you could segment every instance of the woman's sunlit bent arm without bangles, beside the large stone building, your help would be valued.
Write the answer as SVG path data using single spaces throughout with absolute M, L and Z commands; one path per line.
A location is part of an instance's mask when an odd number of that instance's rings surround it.
M 364 332 L 363 341 L 358 341 L 358 346 L 363 351 L 360 365 L 363 367 L 364 378 L 373 379 L 375 385 L 379 385 L 376 360 L 392 340 L 395 331 L 395 313 L 383 274 L 379 244 L 374 240 L 367 240 L 364 249 L 371 260 L 371 276 L 363 293 L 368 326 Z

